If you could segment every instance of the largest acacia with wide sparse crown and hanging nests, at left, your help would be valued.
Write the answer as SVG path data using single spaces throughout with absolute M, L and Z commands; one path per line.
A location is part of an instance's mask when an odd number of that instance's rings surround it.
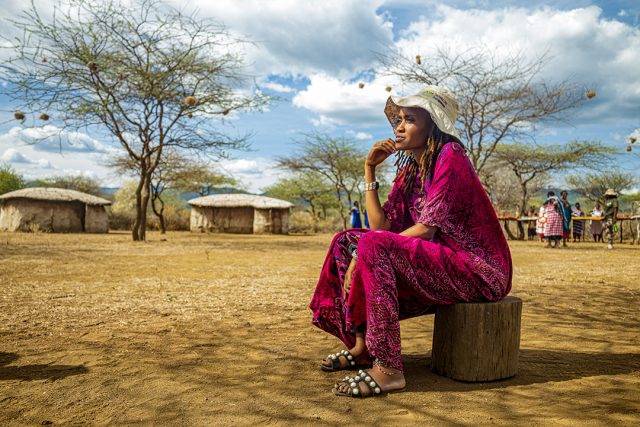
M 70 0 L 50 22 L 32 3 L 12 22 L 23 36 L 5 40 L 12 56 L 2 93 L 34 124 L 38 114 L 50 120 L 43 138 L 83 131 L 124 148 L 139 180 L 134 240 L 145 239 L 151 177 L 164 152 L 246 148 L 249 134 L 229 136 L 221 124 L 230 111 L 273 99 L 246 90 L 245 40 L 160 0 Z

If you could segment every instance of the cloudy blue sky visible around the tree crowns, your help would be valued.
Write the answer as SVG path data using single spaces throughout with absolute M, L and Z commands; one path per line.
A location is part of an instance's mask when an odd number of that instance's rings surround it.
M 46 16 L 49 0 L 36 0 Z M 477 43 L 500 52 L 522 49 L 527 55 L 550 51 L 553 63 L 545 78 L 575 74 L 596 82 L 598 95 L 570 125 L 543 129 L 539 140 L 599 139 L 623 147 L 640 127 L 640 2 L 621 1 L 422 1 L 355 0 L 323 2 L 293 0 L 204 0 L 174 3 L 200 8 L 203 17 L 223 21 L 237 34 L 257 43 L 247 48 L 250 72 L 261 88 L 288 101 L 264 113 L 241 114 L 229 132 L 253 130 L 253 151 L 236 152 L 224 167 L 253 191 L 277 179 L 274 156 L 286 154 L 302 132 L 327 131 L 357 138 L 363 147 L 391 136 L 382 112 L 388 93 L 407 94 L 393 79 L 369 72 L 373 52 L 394 46 L 420 52 L 447 45 L 465 49 Z M 3 6 L 4 8 L 4 6 Z M 6 5 L 5 19 L 20 6 Z M 3 36 L 13 35 L 5 20 Z M 6 55 L 2 53 L 0 55 Z M 0 59 L 3 56 L 0 56 Z M 357 82 L 366 81 L 364 89 Z M 99 163 L 108 155 L 105 143 L 74 135 L 82 144 L 58 140 L 25 145 L 33 129 L 11 120 L 14 109 L 0 98 L 0 159 L 28 178 L 84 173 L 117 186 Z M 640 136 L 640 135 L 638 135 Z M 640 148 L 640 147 L 638 147 Z M 631 166 L 631 165 L 629 165 Z

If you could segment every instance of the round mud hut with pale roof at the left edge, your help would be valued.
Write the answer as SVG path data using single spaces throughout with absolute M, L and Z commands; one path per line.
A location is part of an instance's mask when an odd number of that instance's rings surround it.
M 108 233 L 106 205 L 91 194 L 62 188 L 25 188 L 0 196 L 0 230 Z

